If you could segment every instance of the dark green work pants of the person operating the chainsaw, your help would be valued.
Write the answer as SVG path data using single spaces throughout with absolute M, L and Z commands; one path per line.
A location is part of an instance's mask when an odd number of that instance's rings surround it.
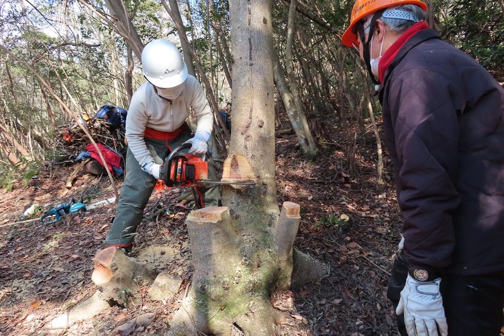
M 172 149 L 179 147 L 190 139 L 190 133 L 184 131 L 177 138 L 168 141 L 151 138 L 144 139 L 155 162 L 163 164 L 164 159 L 170 154 Z M 187 150 L 179 152 L 179 154 L 184 153 L 187 153 Z M 129 147 L 125 168 L 124 182 L 115 210 L 115 218 L 105 238 L 107 245 L 128 246 L 133 242 L 137 226 L 143 219 L 145 206 L 157 182 L 152 175 L 142 170 Z M 208 177 L 212 181 L 217 180 L 215 168 L 210 159 L 208 163 Z M 202 187 L 199 190 L 203 194 L 205 207 L 218 206 L 220 193 L 217 185 L 209 188 Z

